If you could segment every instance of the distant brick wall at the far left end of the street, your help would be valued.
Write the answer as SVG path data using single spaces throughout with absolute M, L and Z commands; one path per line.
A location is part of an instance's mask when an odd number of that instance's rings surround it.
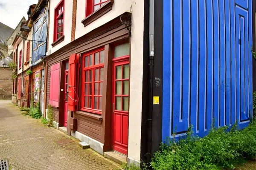
M 0 99 L 12 99 L 12 68 L 0 68 Z

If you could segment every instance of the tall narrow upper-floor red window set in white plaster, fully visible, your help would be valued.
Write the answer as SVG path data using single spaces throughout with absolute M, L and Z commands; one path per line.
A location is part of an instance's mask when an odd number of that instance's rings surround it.
M 64 30 L 64 0 L 55 8 L 54 38 L 53 42 L 63 35 Z

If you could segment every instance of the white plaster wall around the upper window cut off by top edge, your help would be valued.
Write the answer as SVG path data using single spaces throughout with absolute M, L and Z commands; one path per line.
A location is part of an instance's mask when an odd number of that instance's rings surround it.
M 141 0 L 143 1 L 143 0 Z M 103 15 L 93 23 L 90 23 L 88 26 L 84 27 L 84 24 L 81 23 L 85 18 L 85 0 L 77 0 L 77 14 L 76 14 L 76 39 L 87 34 L 99 26 L 108 23 L 119 15 L 131 11 L 132 0 L 114 0 L 112 10 L 107 14 Z

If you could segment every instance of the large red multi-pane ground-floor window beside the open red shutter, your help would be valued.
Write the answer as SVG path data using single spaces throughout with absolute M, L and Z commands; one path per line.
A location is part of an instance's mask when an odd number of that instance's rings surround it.
M 81 110 L 100 113 L 104 76 L 104 48 L 83 55 Z

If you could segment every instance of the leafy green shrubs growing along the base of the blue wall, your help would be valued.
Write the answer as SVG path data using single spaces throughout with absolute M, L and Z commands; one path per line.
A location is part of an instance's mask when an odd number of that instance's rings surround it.
M 237 123 L 229 127 L 212 128 L 204 138 L 192 135 L 189 127 L 186 138 L 167 139 L 154 154 L 151 167 L 155 170 L 218 170 L 234 169 L 242 160 L 256 157 L 256 122 L 244 130 Z

